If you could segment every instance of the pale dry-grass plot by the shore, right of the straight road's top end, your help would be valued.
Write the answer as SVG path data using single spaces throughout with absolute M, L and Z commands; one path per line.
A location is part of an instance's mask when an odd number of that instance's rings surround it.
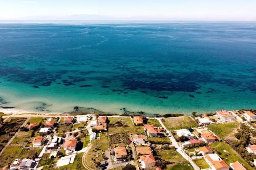
M 178 130 L 178 129 L 198 127 L 195 121 L 187 116 L 164 118 L 162 119 L 162 122 L 168 130 Z

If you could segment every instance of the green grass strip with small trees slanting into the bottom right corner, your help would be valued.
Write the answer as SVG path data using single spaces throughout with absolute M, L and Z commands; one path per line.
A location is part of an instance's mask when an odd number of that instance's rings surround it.
M 226 161 L 226 163 L 229 165 L 229 163 L 239 161 L 242 163 L 246 168 L 253 169 L 248 165 L 248 163 L 236 152 L 234 151 L 227 143 L 225 142 L 216 142 L 212 143 L 210 145 L 211 149 L 215 149 L 221 154 L 219 156 Z

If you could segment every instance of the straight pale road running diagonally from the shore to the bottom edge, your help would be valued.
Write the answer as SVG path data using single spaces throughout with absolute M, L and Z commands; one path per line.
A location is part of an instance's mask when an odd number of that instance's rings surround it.
M 187 154 L 182 150 L 182 148 L 179 146 L 178 142 L 175 140 L 175 138 L 173 137 L 172 133 L 170 133 L 170 131 L 168 131 L 166 129 L 166 127 L 164 126 L 164 124 L 162 123 L 162 119 L 156 118 L 158 119 L 159 123 L 162 125 L 162 127 L 165 129 L 165 131 L 170 135 L 170 137 L 168 137 L 170 139 L 170 141 L 173 143 L 173 145 L 175 146 L 175 148 L 177 148 L 177 152 L 184 158 L 186 159 L 195 170 L 200 170 L 200 168 L 187 156 Z

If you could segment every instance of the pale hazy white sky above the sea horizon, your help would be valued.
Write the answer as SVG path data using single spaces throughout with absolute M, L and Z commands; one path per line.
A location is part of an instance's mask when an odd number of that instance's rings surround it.
M 0 20 L 256 21 L 255 0 L 0 0 Z

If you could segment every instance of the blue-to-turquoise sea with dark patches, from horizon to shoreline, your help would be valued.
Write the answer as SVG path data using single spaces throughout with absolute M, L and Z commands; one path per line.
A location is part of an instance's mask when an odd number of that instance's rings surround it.
M 256 23 L 0 24 L 2 106 L 255 109 Z

